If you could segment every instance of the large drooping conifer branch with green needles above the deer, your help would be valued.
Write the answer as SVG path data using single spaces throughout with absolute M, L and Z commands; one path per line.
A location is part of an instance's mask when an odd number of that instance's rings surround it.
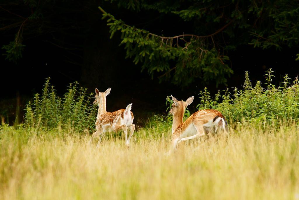
M 120 44 L 125 46 L 126 58 L 133 58 L 135 64 L 142 63 L 142 70 L 147 70 L 152 78 L 159 75 L 160 81 L 171 80 L 181 87 L 190 85 L 199 78 L 202 82 L 213 80 L 219 85 L 225 84 L 226 78 L 233 73 L 228 64 L 225 64 L 228 57 L 220 55 L 216 48 L 208 50 L 209 43 L 205 38 L 193 38 L 190 35 L 158 36 L 126 25 L 99 8 L 103 12 L 102 19 L 108 18 L 110 37 L 113 37 L 116 31 L 120 31 Z M 175 63 L 174 67 L 172 63 Z

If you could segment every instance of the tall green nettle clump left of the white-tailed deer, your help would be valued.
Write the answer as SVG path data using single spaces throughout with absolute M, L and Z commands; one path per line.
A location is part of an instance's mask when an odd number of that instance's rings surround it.
M 63 97 L 56 94 L 50 78 L 45 81 L 42 94 L 35 94 L 26 106 L 25 124 L 31 128 L 88 131 L 94 128 L 97 109 L 91 102 L 92 93 L 70 83 Z

